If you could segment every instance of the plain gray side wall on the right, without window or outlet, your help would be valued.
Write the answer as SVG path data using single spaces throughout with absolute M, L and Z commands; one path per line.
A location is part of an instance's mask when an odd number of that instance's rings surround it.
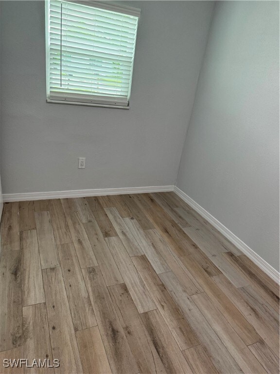
M 217 1 L 177 186 L 279 269 L 279 2 Z

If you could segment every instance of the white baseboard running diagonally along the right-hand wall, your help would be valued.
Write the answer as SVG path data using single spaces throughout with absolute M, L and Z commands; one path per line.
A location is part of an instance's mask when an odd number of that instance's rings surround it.
M 221 224 L 215 217 L 213 217 L 207 210 L 202 206 L 197 204 L 190 196 L 183 192 L 180 188 L 174 187 L 174 192 L 183 201 L 185 201 L 189 206 L 191 206 L 197 213 L 199 213 L 204 219 L 206 219 L 210 224 L 212 224 L 221 234 L 223 234 L 227 240 L 233 243 L 238 249 L 240 249 L 251 261 L 253 261 L 257 266 L 259 266 L 264 273 L 266 273 L 270 278 L 280 283 L 280 274 L 274 269 L 269 263 L 262 259 L 253 249 L 248 247 L 241 239 L 234 235 L 226 226 Z

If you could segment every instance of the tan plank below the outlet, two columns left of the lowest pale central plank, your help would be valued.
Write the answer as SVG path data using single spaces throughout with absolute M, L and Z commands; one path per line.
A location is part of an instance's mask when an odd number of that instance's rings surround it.
M 97 260 L 89 243 L 88 235 L 79 213 L 66 213 L 66 218 L 81 268 L 97 266 Z

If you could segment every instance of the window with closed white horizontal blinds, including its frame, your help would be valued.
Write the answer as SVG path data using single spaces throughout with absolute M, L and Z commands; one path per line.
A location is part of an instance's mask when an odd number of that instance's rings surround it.
M 48 0 L 46 15 L 47 101 L 128 108 L 140 10 Z

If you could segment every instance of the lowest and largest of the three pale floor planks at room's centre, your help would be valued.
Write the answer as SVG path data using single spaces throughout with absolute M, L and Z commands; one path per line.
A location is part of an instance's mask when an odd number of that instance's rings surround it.
M 151 298 L 146 286 L 138 274 L 131 258 L 127 254 L 120 238 L 106 238 L 108 247 L 119 267 L 123 280 L 129 293 L 137 307 L 139 313 L 156 309 L 156 305 Z

